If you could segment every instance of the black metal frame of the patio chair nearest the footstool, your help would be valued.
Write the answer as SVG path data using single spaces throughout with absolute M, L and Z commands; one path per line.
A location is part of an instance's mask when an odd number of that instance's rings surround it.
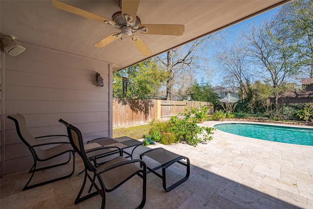
M 142 180 L 143 180 L 142 184 L 143 185 L 142 185 L 142 200 L 141 200 L 140 205 L 137 207 L 137 209 L 142 209 L 144 207 L 145 203 L 146 203 L 146 182 L 147 182 L 147 167 L 146 167 L 146 164 L 142 160 L 139 160 L 139 159 L 136 159 L 136 160 L 126 160 L 126 158 L 122 157 L 121 149 L 118 148 L 119 152 L 120 152 L 120 156 L 116 157 L 116 158 L 124 158 L 125 161 L 119 162 L 119 163 L 115 163 L 115 164 L 112 164 L 112 165 L 110 165 L 108 167 L 105 167 L 104 169 L 98 170 L 96 165 L 93 165 L 90 162 L 90 160 L 91 161 L 93 161 L 93 160 L 89 159 L 88 156 L 85 153 L 84 142 L 83 142 L 83 138 L 82 138 L 82 134 L 81 134 L 80 130 L 78 128 L 76 128 L 75 126 L 69 124 L 68 122 L 64 121 L 63 119 L 60 119 L 59 121 L 61 123 L 63 123 L 67 127 L 67 134 L 68 134 L 69 141 L 72 144 L 72 146 L 74 147 L 75 151 L 81 156 L 81 158 L 82 158 L 82 160 L 84 162 L 84 165 L 85 165 L 85 177 L 84 177 L 83 185 L 82 185 L 82 187 L 81 187 L 81 189 L 80 189 L 80 191 L 79 191 L 79 193 L 78 193 L 78 195 L 77 195 L 77 197 L 75 199 L 75 205 L 80 203 L 80 202 L 82 202 L 82 201 L 84 201 L 84 200 L 86 200 L 86 199 L 88 199 L 88 198 L 90 198 L 90 197 L 92 197 L 92 196 L 100 194 L 101 197 L 102 197 L 101 209 L 104 209 L 105 208 L 105 204 L 106 204 L 105 192 L 113 191 L 114 189 L 116 189 L 117 187 L 121 186 L 122 184 L 127 182 L 129 179 L 131 179 L 134 175 L 138 175 L 139 177 L 142 178 Z M 74 134 L 76 136 L 73 136 L 72 132 L 74 132 Z M 75 139 L 78 140 L 78 142 L 76 141 L 76 143 L 75 143 L 75 141 L 74 141 Z M 101 147 L 100 149 L 106 149 L 106 148 L 108 148 L 108 147 Z M 107 162 L 107 163 L 109 163 L 109 162 Z M 114 185 L 111 189 L 107 189 L 105 184 L 104 184 L 104 181 L 102 179 L 101 174 L 104 174 L 105 172 L 108 172 L 108 171 L 110 171 L 112 169 L 117 169 L 118 167 L 121 167 L 121 166 L 127 165 L 127 164 L 131 164 L 131 163 L 140 163 L 140 167 L 138 166 L 139 170 L 137 172 L 135 172 L 135 173 L 132 173 L 124 181 L 118 183 L 117 185 Z M 142 169 L 140 169 L 140 168 L 142 168 Z M 88 171 L 93 173 L 93 177 L 91 177 L 89 175 Z M 83 190 L 85 188 L 85 185 L 86 185 L 87 178 L 91 182 L 91 186 L 89 188 L 89 194 L 81 197 L 82 192 L 83 192 Z M 100 188 L 95 183 L 95 178 L 98 179 L 98 182 L 100 183 Z M 96 191 L 90 193 L 90 189 L 91 189 L 92 186 L 95 187 Z

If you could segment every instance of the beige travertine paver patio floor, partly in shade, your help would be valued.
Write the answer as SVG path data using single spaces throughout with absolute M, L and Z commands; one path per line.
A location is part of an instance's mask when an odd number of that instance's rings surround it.
M 208 121 L 203 125 L 215 123 L 218 122 Z M 187 156 L 191 162 L 189 179 L 170 192 L 163 190 L 161 179 L 148 174 L 146 209 L 313 208 L 313 146 L 214 132 L 212 141 L 197 147 L 156 144 L 135 150 L 138 157 L 147 149 L 164 147 Z M 55 175 L 69 169 L 70 165 L 41 175 Z M 73 204 L 83 181 L 83 175 L 77 176 L 82 169 L 83 163 L 77 157 L 72 177 L 26 191 L 22 187 L 29 178 L 27 171 L 6 175 L 1 179 L 0 208 L 98 209 L 100 196 Z M 170 176 L 183 175 L 179 165 L 169 169 Z M 131 179 L 106 197 L 108 209 L 135 208 L 141 197 L 140 178 Z

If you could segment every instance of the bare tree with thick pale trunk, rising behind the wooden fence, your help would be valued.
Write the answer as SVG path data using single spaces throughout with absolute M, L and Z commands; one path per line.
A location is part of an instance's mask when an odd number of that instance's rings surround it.
M 166 82 L 166 99 L 172 100 L 174 86 L 181 80 L 182 75 L 195 77 L 197 71 L 208 72 L 208 58 L 205 51 L 210 40 L 216 39 L 217 34 L 209 35 L 192 43 L 161 54 L 155 58 L 159 68 L 169 72 Z M 189 79 L 188 79 L 189 80 Z

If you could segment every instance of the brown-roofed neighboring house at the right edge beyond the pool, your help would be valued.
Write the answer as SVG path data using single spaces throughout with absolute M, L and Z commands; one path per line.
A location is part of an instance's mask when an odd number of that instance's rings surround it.
M 279 95 L 277 102 L 279 104 L 301 104 L 313 102 L 313 78 L 302 80 L 302 90 L 293 90 Z M 268 103 L 275 103 L 275 97 L 270 96 Z

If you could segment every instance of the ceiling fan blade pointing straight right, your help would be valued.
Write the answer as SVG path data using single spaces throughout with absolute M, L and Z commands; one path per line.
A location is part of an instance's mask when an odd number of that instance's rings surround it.
M 146 27 L 148 32 L 142 34 L 154 34 L 154 35 L 172 35 L 181 36 L 185 31 L 183 24 L 141 24 L 140 27 Z

